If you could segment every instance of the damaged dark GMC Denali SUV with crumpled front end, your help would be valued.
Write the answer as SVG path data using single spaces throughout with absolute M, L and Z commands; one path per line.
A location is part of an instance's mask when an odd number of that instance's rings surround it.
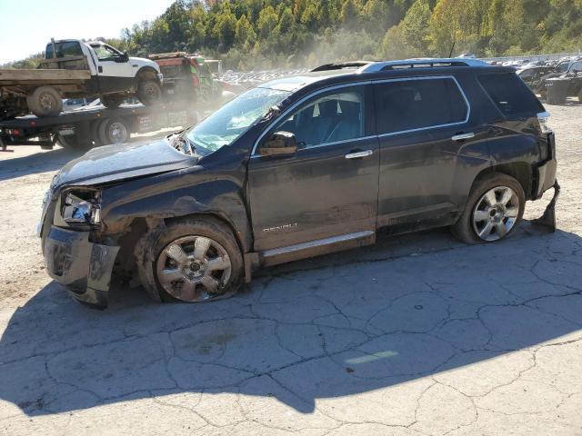
M 256 268 L 450 226 L 513 233 L 558 187 L 548 114 L 473 59 L 327 64 L 262 84 L 180 134 L 95 148 L 45 195 L 47 271 L 105 307 L 112 272 L 157 301 L 236 292 Z M 116 276 L 116 275 L 115 275 Z

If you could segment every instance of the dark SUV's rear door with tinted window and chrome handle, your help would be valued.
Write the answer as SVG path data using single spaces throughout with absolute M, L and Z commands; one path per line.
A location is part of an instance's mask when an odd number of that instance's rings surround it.
M 469 124 L 467 97 L 452 76 L 379 81 L 374 95 L 378 226 L 409 231 L 426 221 L 447 221 L 457 208 L 457 156 L 482 134 Z

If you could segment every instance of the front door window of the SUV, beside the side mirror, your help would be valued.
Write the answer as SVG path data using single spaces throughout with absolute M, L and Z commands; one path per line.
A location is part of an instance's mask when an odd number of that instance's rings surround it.
M 272 133 L 295 134 L 303 148 L 365 136 L 364 94 L 361 86 L 317 95 L 278 124 Z

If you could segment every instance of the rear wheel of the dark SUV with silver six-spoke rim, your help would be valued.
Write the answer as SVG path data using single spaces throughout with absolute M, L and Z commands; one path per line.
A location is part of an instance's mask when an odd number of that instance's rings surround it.
M 465 210 L 451 233 L 464 243 L 492 243 L 515 232 L 524 215 L 521 183 L 504 173 L 489 173 L 473 183 Z

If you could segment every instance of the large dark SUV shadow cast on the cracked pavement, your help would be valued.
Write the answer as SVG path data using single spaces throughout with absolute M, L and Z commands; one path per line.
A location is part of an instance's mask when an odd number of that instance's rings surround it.
M 386 238 L 268 270 L 210 304 L 157 304 L 119 286 L 95 312 L 51 282 L 5 320 L 0 398 L 32 416 L 240 392 L 313 412 L 319 399 L 563 341 L 582 327 L 581 266 L 576 234 L 524 223 L 479 246 L 442 232 Z

